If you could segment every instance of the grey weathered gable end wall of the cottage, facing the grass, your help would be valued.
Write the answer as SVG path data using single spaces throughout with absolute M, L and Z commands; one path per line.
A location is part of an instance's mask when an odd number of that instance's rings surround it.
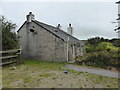
M 25 25 L 21 29 L 19 35 L 22 36 L 20 41 L 23 48 L 23 58 L 43 61 L 66 61 L 66 43 L 63 40 L 35 23 Z M 30 32 L 29 29 L 34 29 L 37 34 Z

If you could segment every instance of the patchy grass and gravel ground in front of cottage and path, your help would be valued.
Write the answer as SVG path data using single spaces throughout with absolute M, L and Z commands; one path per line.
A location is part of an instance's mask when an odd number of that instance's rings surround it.
M 23 65 L 3 67 L 3 88 L 118 88 L 118 79 L 68 70 L 68 63 L 24 60 Z

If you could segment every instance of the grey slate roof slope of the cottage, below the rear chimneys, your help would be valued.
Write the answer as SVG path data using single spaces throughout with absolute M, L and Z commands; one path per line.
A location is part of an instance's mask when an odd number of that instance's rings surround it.
M 51 33 L 53 33 L 54 35 L 60 37 L 61 39 L 63 39 L 64 41 L 67 41 L 68 40 L 68 37 L 69 37 L 69 42 L 71 43 L 83 43 L 81 40 L 71 36 L 70 34 L 68 34 L 67 32 L 57 28 L 57 27 L 54 27 L 54 26 L 51 26 L 51 25 L 48 25 L 48 24 L 45 24 L 45 23 L 42 23 L 42 22 L 39 22 L 37 20 L 33 20 L 34 23 L 36 23 L 37 25 L 47 29 L 48 31 L 50 31 Z

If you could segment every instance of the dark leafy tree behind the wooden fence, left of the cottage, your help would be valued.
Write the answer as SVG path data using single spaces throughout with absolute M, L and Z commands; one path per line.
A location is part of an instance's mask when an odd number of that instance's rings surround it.
M 19 46 L 18 36 L 15 33 L 16 24 L 8 21 L 4 16 L 0 17 L 2 22 L 2 50 L 15 49 Z

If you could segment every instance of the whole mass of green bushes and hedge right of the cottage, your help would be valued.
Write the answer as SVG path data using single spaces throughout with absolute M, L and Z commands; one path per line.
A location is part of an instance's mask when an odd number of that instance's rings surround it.
M 79 64 L 119 70 L 120 47 L 110 42 L 102 42 L 102 40 L 105 41 L 103 38 L 88 39 L 86 54 L 83 57 L 77 57 L 76 61 Z M 94 44 L 93 41 L 95 41 Z

